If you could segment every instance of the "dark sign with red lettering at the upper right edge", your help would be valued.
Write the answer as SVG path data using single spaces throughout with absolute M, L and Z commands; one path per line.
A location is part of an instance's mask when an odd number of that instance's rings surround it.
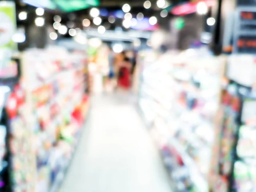
M 233 53 L 256 53 L 256 9 L 241 7 L 236 11 Z

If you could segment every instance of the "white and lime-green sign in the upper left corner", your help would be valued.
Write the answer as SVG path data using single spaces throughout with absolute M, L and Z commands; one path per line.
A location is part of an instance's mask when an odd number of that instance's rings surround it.
M 0 49 L 17 48 L 17 44 L 12 41 L 15 31 L 15 3 L 12 1 L 0 1 Z

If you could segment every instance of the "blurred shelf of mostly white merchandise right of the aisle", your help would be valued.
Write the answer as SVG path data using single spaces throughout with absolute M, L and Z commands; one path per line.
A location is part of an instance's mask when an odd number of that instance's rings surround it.
M 141 71 L 139 105 L 173 190 L 208 192 L 221 94 L 220 58 L 200 48 L 148 61 Z

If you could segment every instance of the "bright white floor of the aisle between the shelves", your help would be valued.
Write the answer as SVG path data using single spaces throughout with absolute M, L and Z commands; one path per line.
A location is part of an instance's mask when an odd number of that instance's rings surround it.
M 95 96 L 61 192 L 171 192 L 168 176 L 128 95 Z

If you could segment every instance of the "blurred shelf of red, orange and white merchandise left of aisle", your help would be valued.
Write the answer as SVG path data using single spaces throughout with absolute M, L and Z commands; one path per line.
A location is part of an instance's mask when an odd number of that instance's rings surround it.
M 20 55 L 6 104 L 12 191 L 58 190 L 89 108 L 85 55 L 58 47 Z

